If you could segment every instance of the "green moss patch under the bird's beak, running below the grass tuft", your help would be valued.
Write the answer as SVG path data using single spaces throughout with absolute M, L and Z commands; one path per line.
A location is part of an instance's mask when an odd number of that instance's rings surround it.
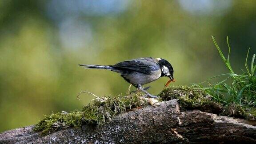
M 203 112 L 211 112 L 222 116 L 232 116 L 247 120 L 255 120 L 256 118 L 256 108 L 218 101 L 201 88 L 191 88 L 187 86 L 168 87 L 164 88 L 159 96 L 164 101 L 179 99 L 178 102 L 181 108 L 188 110 L 199 109 Z

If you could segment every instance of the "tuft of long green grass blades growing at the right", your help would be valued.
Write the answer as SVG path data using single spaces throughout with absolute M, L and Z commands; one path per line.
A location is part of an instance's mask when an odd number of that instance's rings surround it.
M 249 68 L 247 64 L 248 54 L 245 60 L 245 68 L 246 71 L 242 72 L 242 74 L 237 74 L 233 71 L 232 66 L 229 61 L 230 55 L 230 46 L 228 43 L 228 56 L 227 58 L 222 53 L 220 47 L 216 43 L 216 40 L 212 36 L 212 40 L 220 54 L 220 57 L 224 61 L 224 64 L 228 68 L 229 73 L 221 74 L 218 76 L 214 76 L 200 84 L 194 84 L 194 86 L 200 86 L 201 89 L 204 89 L 207 93 L 213 96 L 214 100 L 219 101 L 220 103 L 235 103 L 240 104 L 241 106 L 256 106 L 256 64 L 255 61 L 255 54 L 252 56 L 251 66 Z M 226 78 L 216 84 L 211 84 L 210 87 L 203 87 L 201 84 L 209 82 L 213 78 L 226 76 Z M 231 82 L 229 82 L 231 81 Z

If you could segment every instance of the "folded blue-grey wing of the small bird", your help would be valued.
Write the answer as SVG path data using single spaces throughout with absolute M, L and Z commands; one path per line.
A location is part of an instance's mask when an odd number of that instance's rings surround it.
M 145 74 L 157 71 L 160 68 L 159 64 L 156 63 L 156 60 L 150 57 L 126 60 L 110 66 L 120 70 L 136 71 Z

